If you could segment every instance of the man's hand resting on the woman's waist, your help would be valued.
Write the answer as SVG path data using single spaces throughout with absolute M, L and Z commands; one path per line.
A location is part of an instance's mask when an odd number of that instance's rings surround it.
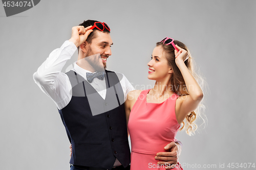
M 166 150 L 166 152 L 157 153 L 155 159 L 161 160 L 157 162 L 157 164 L 164 165 L 165 169 L 172 169 L 178 163 L 178 158 L 181 152 L 181 146 L 178 142 L 170 142 L 164 147 L 164 149 Z M 166 165 L 169 165 L 169 167 L 167 167 Z

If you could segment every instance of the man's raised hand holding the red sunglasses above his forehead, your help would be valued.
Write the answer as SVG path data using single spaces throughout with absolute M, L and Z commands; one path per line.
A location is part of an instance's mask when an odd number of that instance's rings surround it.
M 70 42 L 73 42 L 76 47 L 80 46 L 84 41 L 87 40 L 88 35 L 93 32 L 89 30 L 92 26 L 84 28 L 83 26 L 76 26 L 72 28 L 72 36 L 69 39 Z

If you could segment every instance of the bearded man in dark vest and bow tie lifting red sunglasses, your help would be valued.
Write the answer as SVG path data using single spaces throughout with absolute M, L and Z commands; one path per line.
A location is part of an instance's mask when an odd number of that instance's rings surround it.
M 129 169 L 123 102 L 134 88 L 123 75 L 101 69 L 112 54 L 112 44 L 108 25 L 84 21 L 72 28 L 69 41 L 54 50 L 33 75 L 59 110 L 72 144 L 71 169 Z M 60 72 L 76 48 L 74 69 Z M 161 164 L 176 164 L 179 147 L 174 142 L 167 144 L 165 149 L 172 148 L 172 152 L 158 153 L 156 159 L 163 160 Z

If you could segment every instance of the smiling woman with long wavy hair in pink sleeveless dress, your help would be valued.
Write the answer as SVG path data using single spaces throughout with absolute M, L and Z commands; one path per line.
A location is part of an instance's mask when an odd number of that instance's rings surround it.
M 172 38 L 158 42 L 152 53 L 148 79 L 155 80 L 152 89 L 134 90 L 125 102 L 127 127 L 131 135 L 131 170 L 165 169 L 157 165 L 156 153 L 174 141 L 181 124 L 186 132 L 196 130 L 195 110 L 203 91 L 194 78 L 187 47 Z M 179 163 L 174 169 L 182 169 Z

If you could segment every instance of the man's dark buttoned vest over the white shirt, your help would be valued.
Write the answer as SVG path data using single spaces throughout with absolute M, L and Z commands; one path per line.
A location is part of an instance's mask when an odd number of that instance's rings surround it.
M 74 165 L 111 169 L 116 158 L 124 167 L 130 164 L 123 90 L 115 72 L 105 73 L 105 100 L 76 72 L 66 73 L 72 99 L 59 114 L 72 144 Z

